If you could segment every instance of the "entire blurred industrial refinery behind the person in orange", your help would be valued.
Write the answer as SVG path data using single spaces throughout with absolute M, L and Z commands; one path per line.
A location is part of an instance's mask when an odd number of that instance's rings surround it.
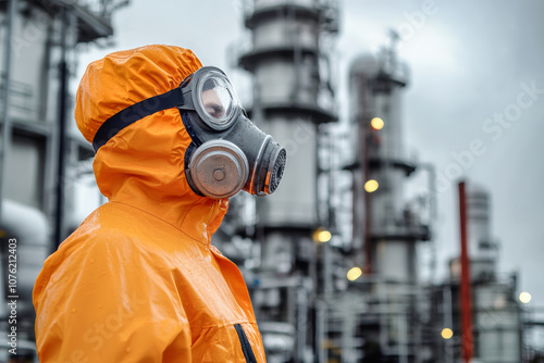
M 94 184 L 95 152 L 76 135 L 70 84 L 78 52 L 111 47 L 112 18 L 132 5 L 0 2 L 0 362 L 38 362 L 34 281 L 82 222 L 75 210 L 88 199 L 79 196 Z M 526 306 L 519 272 L 498 263 L 495 196 L 459 177 L 455 210 L 445 211 L 438 166 L 408 151 L 406 92 L 417 75 L 400 59 L 401 35 L 391 30 L 338 74 L 339 0 L 243 0 L 236 9 L 250 39 L 231 48 L 233 67 L 250 79 L 242 102 L 288 161 L 273 196 L 231 198 L 211 241 L 244 276 L 267 361 L 544 362 L 544 324 Z M 96 206 L 107 202 L 94 193 Z M 457 223 L 448 261 L 436 251 L 444 213 Z

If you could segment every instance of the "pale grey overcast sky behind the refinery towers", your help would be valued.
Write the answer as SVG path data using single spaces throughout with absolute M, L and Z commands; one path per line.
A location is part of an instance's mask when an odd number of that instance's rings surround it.
M 114 15 L 115 46 L 83 52 L 77 78 L 95 59 L 148 43 L 190 48 L 202 63 L 230 70 L 228 47 L 247 39 L 239 3 L 132 0 Z M 459 253 L 455 183 L 460 172 L 491 193 L 500 272 L 518 271 L 519 290 L 531 292 L 531 305 L 540 306 L 544 306 L 542 18 L 541 0 L 343 0 L 334 52 L 338 102 L 346 104 L 350 62 L 363 52 L 375 52 L 387 40 L 388 28 L 400 33 L 399 55 L 411 68 L 404 99 L 407 151 L 433 163 L 438 173 L 436 243 L 442 276 L 447 259 Z

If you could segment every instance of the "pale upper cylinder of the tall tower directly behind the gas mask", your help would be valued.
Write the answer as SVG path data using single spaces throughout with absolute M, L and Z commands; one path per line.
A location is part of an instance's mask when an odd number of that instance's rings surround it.
M 268 226 L 314 227 L 317 221 L 317 124 L 335 118 L 321 107 L 326 79 L 319 72 L 324 3 L 317 0 L 255 0 L 246 9 L 252 48 L 239 63 L 254 74 L 251 118 L 287 151 L 282 184 L 259 201 Z

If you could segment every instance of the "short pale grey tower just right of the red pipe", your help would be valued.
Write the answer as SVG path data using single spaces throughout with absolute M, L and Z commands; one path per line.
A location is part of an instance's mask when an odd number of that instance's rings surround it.
M 496 272 L 497 246 L 492 237 L 489 192 L 469 184 L 467 192 L 470 274 L 474 316 L 474 355 L 479 362 L 521 362 L 521 310 L 516 278 Z

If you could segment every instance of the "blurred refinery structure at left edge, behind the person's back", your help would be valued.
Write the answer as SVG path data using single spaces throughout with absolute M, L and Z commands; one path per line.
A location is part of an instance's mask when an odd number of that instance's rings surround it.
M 16 362 L 35 359 L 32 290 L 45 259 L 74 224 L 75 182 L 89 173 L 91 148 L 74 138 L 74 95 L 69 83 L 81 43 L 113 34 L 111 16 L 120 1 L 0 2 L 0 237 L 2 251 L 2 336 L 10 331 L 16 297 Z M 9 241 L 16 249 L 9 250 Z M 11 247 L 10 247 L 11 249 Z M 9 259 L 16 254 L 17 260 Z M 16 263 L 16 274 L 9 262 Z M 13 277 L 14 276 L 14 277 Z M 14 283 L 14 284 L 12 284 Z M 16 288 L 12 290 L 12 286 Z M 9 338 L 8 338 L 9 339 Z M 8 340 L 5 339 L 5 340 Z

